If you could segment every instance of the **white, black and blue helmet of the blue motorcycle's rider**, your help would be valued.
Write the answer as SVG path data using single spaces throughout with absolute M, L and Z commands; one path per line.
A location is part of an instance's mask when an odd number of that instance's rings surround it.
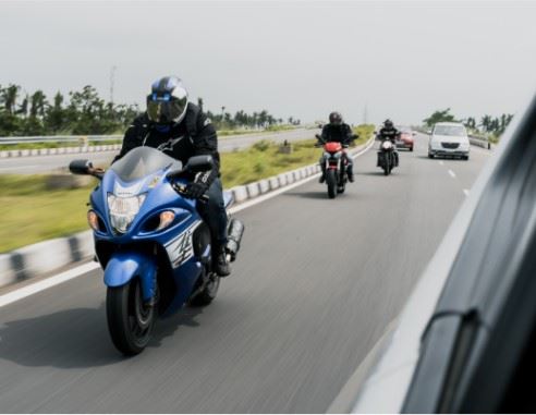
M 186 114 L 188 93 L 181 78 L 165 76 L 153 83 L 147 96 L 147 117 L 157 125 L 180 123 Z

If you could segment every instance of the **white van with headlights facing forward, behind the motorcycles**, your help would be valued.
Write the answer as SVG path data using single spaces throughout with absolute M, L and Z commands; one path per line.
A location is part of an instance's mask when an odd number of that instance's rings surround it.
M 428 144 L 428 157 L 460 157 L 468 160 L 470 141 L 467 131 L 458 122 L 438 122 L 434 125 Z

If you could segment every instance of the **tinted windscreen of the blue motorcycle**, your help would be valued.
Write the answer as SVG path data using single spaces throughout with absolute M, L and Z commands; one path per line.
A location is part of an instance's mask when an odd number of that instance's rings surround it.
M 182 169 L 182 162 L 153 147 L 136 147 L 115 161 L 110 169 L 124 182 L 145 178 L 159 170 L 171 167 Z

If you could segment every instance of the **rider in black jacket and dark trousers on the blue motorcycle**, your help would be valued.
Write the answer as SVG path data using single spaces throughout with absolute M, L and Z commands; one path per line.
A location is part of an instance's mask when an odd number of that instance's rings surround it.
M 231 273 L 227 260 L 227 213 L 223 191 L 219 179 L 220 156 L 218 137 L 210 120 L 199 107 L 188 102 L 188 94 L 176 76 L 156 81 L 147 96 L 147 111 L 137 117 L 126 130 L 121 152 L 113 162 L 138 146 L 154 147 L 181 160 L 183 164 L 193 156 L 210 155 L 215 168 L 190 178 L 184 196 L 199 199 L 205 194 L 208 202 L 197 204 L 199 215 L 210 228 L 212 263 L 220 277 Z

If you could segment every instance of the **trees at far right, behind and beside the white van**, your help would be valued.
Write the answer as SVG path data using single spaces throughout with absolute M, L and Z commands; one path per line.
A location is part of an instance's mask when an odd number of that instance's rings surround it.
M 446 110 L 435 111 L 430 117 L 423 120 L 426 126 L 431 127 L 438 122 L 461 122 L 467 129 L 485 134 L 490 134 L 499 137 L 507 130 L 508 124 L 512 121 L 513 114 L 503 113 L 499 117 L 483 115 L 479 120 L 475 117 L 467 117 L 465 119 L 458 120 L 454 114 L 450 112 L 450 108 Z

